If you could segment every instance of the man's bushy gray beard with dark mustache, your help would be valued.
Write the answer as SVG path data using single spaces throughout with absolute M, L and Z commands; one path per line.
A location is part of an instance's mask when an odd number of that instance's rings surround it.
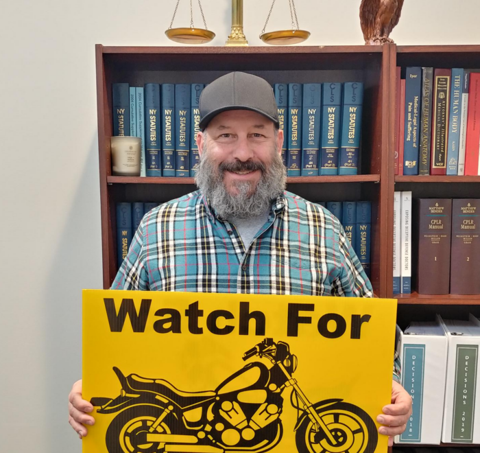
M 263 163 L 235 161 L 217 166 L 210 159 L 204 147 L 200 165 L 195 174 L 195 183 L 208 198 L 217 216 L 223 218 L 249 219 L 261 216 L 270 209 L 272 201 L 285 191 L 287 171 L 280 154 L 272 148 L 273 159 L 266 167 Z M 224 184 L 224 171 L 261 170 L 262 175 L 256 186 L 249 181 L 235 185 L 238 193 L 232 195 Z

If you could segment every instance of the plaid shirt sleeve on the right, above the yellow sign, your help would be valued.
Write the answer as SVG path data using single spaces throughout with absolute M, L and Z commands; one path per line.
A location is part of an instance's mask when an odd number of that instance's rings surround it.
M 372 283 L 339 222 L 338 228 L 340 272 L 333 281 L 332 294 L 344 297 L 373 297 Z

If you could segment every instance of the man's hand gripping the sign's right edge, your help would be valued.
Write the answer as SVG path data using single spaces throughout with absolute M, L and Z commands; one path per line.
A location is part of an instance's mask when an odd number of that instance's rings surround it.
M 388 446 L 391 447 L 394 436 L 402 434 L 407 428 L 411 415 L 411 397 L 398 382 L 392 382 L 392 404 L 383 406 L 382 410 L 383 414 L 376 417 L 376 421 L 385 425 L 379 428 L 379 433 L 388 436 Z

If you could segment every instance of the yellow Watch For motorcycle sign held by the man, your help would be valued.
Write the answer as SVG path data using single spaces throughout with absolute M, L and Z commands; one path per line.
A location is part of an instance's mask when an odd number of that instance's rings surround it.
M 396 301 L 85 290 L 84 453 L 374 453 Z

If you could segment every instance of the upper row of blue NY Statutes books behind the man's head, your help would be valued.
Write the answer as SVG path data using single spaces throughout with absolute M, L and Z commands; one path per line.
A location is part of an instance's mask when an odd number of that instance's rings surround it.
M 112 84 L 113 135 L 141 137 L 141 176 L 195 176 L 206 84 Z M 355 175 L 363 83 L 273 86 L 288 176 Z

